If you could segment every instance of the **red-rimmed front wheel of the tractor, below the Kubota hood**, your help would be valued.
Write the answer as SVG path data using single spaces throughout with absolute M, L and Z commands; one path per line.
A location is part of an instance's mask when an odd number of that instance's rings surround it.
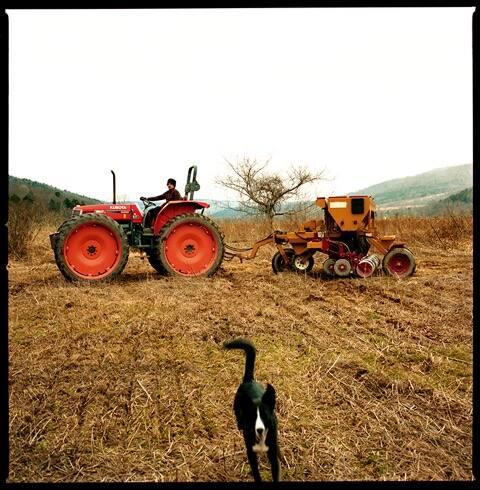
M 128 261 L 127 237 L 118 223 L 102 214 L 83 214 L 57 231 L 54 253 L 69 281 L 111 280 Z

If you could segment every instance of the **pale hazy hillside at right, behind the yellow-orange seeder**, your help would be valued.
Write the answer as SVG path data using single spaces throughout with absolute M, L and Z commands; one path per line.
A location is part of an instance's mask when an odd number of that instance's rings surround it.
M 350 194 L 368 194 L 375 198 L 384 214 L 432 214 L 449 205 L 471 210 L 472 164 L 430 170 L 418 175 L 393 179 Z

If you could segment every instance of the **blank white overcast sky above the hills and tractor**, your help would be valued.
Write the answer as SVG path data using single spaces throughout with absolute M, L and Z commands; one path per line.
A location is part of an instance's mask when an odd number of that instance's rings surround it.
M 9 174 L 98 199 L 225 159 L 341 194 L 472 162 L 473 8 L 7 10 Z

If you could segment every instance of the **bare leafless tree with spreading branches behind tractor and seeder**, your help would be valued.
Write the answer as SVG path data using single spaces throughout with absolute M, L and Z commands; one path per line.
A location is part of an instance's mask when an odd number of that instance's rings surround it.
M 235 191 L 240 198 L 240 205 L 234 208 L 249 215 L 263 215 L 273 228 L 273 218 L 305 210 L 306 206 L 297 205 L 290 211 L 280 212 L 282 204 L 288 199 L 299 200 L 302 188 L 322 178 L 322 172 L 311 172 L 306 167 L 291 167 L 285 176 L 279 173 L 269 173 L 266 167 L 269 163 L 257 162 L 255 159 L 244 158 L 236 163 L 227 160 L 231 173 L 223 178 L 217 178 L 217 183 Z M 309 206 L 309 205 L 307 205 Z

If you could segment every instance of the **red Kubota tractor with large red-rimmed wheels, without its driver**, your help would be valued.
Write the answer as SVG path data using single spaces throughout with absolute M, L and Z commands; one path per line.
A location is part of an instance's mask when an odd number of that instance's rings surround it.
M 224 255 L 223 234 L 203 215 L 210 205 L 193 200 L 200 189 L 196 166 L 188 170 L 185 199 L 163 204 L 150 226 L 145 218 L 156 204 L 143 200 L 143 212 L 137 204 L 117 204 L 112 174 L 112 204 L 75 206 L 72 217 L 50 235 L 55 261 L 68 280 L 114 279 L 125 268 L 130 247 L 143 251 L 162 274 L 190 277 L 216 272 Z

